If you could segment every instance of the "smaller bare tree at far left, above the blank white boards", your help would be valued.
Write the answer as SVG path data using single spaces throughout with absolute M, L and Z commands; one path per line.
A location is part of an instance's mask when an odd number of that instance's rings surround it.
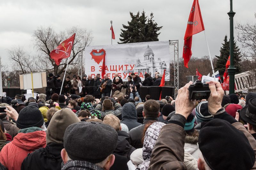
M 8 53 L 9 58 L 13 61 L 14 71 L 21 74 L 36 71 L 35 58 L 26 53 L 22 47 L 12 47 L 11 50 L 8 50 Z

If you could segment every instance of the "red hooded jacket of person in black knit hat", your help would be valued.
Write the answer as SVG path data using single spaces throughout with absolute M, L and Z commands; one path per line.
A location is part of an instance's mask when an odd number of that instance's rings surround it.
M 19 170 L 28 153 L 45 146 L 46 133 L 44 131 L 18 133 L 13 138 L 13 141 L 5 145 L 1 150 L 0 162 L 8 170 Z

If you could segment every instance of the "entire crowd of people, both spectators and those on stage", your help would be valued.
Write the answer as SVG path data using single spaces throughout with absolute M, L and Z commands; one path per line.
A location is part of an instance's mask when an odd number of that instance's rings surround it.
M 207 100 L 189 100 L 190 81 L 175 100 L 142 102 L 140 86 L 161 75 L 145 77 L 67 77 L 59 95 L 49 74 L 46 94 L 1 98 L 0 169 L 256 169 L 256 93 L 210 81 Z

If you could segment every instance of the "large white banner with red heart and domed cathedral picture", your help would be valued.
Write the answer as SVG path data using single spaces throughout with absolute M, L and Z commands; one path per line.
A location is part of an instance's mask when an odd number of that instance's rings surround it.
M 85 74 L 101 74 L 105 54 L 106 74 L 110 79 L 118 73 L 123 81 L 131 73 L 138 74 L 144 80 L 145 73 L 164 73 L 165 81 L 170 80 L 170 50 L 169 41 L 154 41 L 143 43 L 118 44 L 107 46 L 85 47 Z

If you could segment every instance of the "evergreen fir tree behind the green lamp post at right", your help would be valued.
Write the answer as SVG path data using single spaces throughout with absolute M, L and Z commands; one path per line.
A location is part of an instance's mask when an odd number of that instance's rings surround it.
M 226 63 L 229 56 L 229 40 L 227 35 L 224 38 L 224 43 L 222 43 L 222 47 L 220 47 L 220 56 L 215 55 L 217 57 L 217 63 L 215 70 L 219 70 L 220 75 L 223 75 L 226 69 Z M 236 46 L 236 41 L 234 41 L 234 66 L 236 67 L 236 74 L 240 73 L 239 63 L 241 61 L 241 52 L 238 46 Z

